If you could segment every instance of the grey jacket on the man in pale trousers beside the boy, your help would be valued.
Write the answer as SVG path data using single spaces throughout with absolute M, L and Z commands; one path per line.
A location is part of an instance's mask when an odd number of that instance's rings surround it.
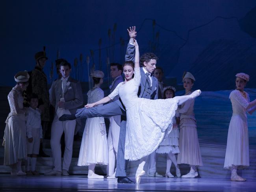
M 61 79 L 57 79 L 52 83 L 50 92 L 50 103 L 55 107 L 55 112 L 58 109 L 58 102 L 61 98 Z M 67 88 L 64 92 L 65 109 L 68 109 L 71 114 L 75 114 L 78 107 L 83 104 L 83 93 L 80 82 L 69 77 L 67 80 Z

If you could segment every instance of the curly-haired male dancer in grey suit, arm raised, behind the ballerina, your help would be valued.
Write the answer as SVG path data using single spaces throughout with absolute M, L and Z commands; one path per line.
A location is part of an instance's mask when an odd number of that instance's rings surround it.
M 128 30 L 130 38 L 136 37 L 135 27 Z M 134 61 L 135 59 L 135 46 L 133 40 L 128 43 L 126 50 L 125 60 L 126 62 Z M 158 57 L 153 53 L 146 53 L 140 57 L 141 65 L 141 85 L 139 87 L 138 96 L 140 98 L 157 99 L 158 98 L 158 80 L 151 76 L 152 72 L 156 68 L 156 61 Z M 92 118 L 96 116 L 110 117 L 115 115 L 121 115 L 121 126 L 118 143 L 117 153 L 117 170 L 115 177 L 117 177 L 118 183 L 134 183 L 128 177 L 126 177 L 126 165 L 127 161 L 124 159 L 124 146 L 126 135 L 126 112 L 122 105 L 121 100 L 108 103 L 99 107 L 82 108 L 76 111 L 75 115 L 63 115 L 59 120 L 65 121 L 75 118 Z

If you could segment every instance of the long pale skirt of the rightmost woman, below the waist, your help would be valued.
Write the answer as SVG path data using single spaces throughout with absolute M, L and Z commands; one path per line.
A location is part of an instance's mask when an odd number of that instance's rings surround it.
M 233 115 L 228 127 L 228 140 L 224 168 L 237 166 L 243 169 L 249 166 L 249 137 L 247 121 L 239 115 Z

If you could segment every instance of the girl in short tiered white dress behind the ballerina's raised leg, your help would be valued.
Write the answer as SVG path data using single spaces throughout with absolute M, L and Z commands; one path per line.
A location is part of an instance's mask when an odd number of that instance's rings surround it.
M 169 99 L 169 98 L 174 98 L 175 96 L 175 91 L 176 89 L 172 86 L 167 86 L 163 88 L 163 98 L 164 99 Z M 169 136 L 163 140 L 160 145 L 158 146 L 158 149 L 156 150 L 156 153 L 161 153 L 161 154 L 167 154 L 167 159 L 166 159 L 166 172 L 165 172 L 165 177 L 174 177 L 173 174 L 171 174 L 170 169 L 171 169 L 171 164 L 173 163 L 174 166 L 176 167 L 176 176 L 180 177 L 180 168 L 179 165 L 177 164 L 177 159 L 174 154 L 180 153 L 179 150 L 179 129 L 178 129 L 178 124 L 179 124 L 179 114 L 176 113 L 175 117 L 173 118 L 173 129 Z

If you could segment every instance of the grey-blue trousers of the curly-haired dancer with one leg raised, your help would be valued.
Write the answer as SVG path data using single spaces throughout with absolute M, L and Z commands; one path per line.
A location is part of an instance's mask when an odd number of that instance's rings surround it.
M 120 135 L 117 149 L 117 170 L 115 176 L 126 177 L 126 167 L 128 162 L 124 159 L 126 111 L 120 107 L 120 105 L 121 102 L 117 100 L 115 102 L 111 102 L 99 107 L 78 109 L 76 111 L 76 118 L 111 117 L 115 115 L 121 115 Z

